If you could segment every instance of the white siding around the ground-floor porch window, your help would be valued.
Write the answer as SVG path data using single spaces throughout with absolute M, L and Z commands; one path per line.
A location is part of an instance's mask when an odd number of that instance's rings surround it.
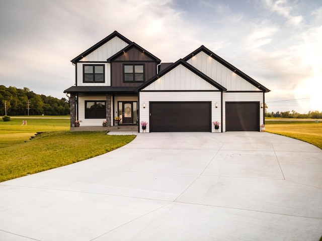
M 85 118 L 85 101 L 86 100 L 103 100 L 106 101 L 106 96 L 79 96 L 78 97 L 78 121 L 81 123 L 81 126 L 84 127 L 98 127 L 102 126 L 103 121 L 106 121 L 106 118 L 100 119 L 87 119 Z M 111 97 L 112 103 L 112 97 Z M 113 116 L 111 110 L 111 116 Z M 111 125 L 113 121 L 111 120 Z

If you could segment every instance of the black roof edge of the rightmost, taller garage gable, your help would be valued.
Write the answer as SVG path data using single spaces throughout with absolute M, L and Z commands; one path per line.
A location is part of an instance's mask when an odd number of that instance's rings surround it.
M 242 77 L 243 79 L 247 80 L 248 82 L 250 82 L 251 84 L 253 84 L 254 86 L 256 86 L 257 88 L 263 90 L 264 92 L 270 92 L 271 90 L 269 90 L 268 88 L 266 88 L 264 85 L 260 84 L 259 82 L 257 82 L 255 79 L 251 78 L 250 76 L 248 76 L 247 74 L 245 74 L 243 71 L 237 69 L 235 66 L 229 64 L 227 61 L 225 61 L 224 59 L 220 58 L 218 55 L 216 55 L 215 53 L 213 53 L 212 51 L 210 51 L 209 49 L 207 49 L 205 46 L 201 45 L 200 48 L 196 49 L 195 51 L 193 51 L 192 53 L 188 54 L 184 60 L 187 61 L 190 58 L 192 58 L 192 56 L 197 55 L 198 53 L 200 53 L 201 51 L 203 51 L 204 53 L 208 54 L 209 56 L 211 56 L 214 60 L 218 61 L 219 63 L 221 63 L 223 66 L 227 67 L 228 69 L 230 69 L 232 72 L 236 73 L 237 75 L 239 75 L 240 77 Z

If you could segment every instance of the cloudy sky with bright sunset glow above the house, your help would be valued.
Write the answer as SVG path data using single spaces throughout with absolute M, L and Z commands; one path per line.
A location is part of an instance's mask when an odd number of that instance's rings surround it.
M 0 0 L 0 84 L 66 98 L 70 60 L 115 30 L 162 62 L 204 45 L 271 90 L 269 112 L 322 111 L 320 0 Z

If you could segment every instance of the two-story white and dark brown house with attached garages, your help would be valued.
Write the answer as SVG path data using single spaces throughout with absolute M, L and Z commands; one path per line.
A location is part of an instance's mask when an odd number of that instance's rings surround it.
M 259 131 L 264 123 L 270 90 L 205 46 L 162 63 L 115 31 L 71 62 L 71 129 L 76 120 L 93 128 L 145 121 L 146 132 L 214 132 L 214 121 L 220 132 Z

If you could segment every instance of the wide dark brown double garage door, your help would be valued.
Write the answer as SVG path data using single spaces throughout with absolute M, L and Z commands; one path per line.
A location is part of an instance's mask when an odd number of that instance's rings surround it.
M 210 132 L 210 102 L 150 102 L 150 132 Z

